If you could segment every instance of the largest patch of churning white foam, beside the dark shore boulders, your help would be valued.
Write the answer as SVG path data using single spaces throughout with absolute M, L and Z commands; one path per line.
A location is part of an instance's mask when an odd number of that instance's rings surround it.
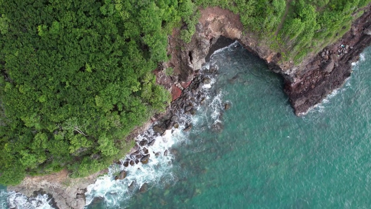
M 140 188 L 144 183 L 155 185 L 160 183 L 161 178 L 167 180 L 172 179 L 174 176 L 170 171 L 172 167 L 172 159 L 174 156 L 168 151 L 168 155 L 165 156 L 165 150 L 169 150 L 174 144 L 179 143 L 186 139 L 183 133 L 184 126 L 180 126 L 178 129 L 166 131 L 164 136 L 155 137 L 155 142 L 152 146 L 145 146 L 148 148 L 150 159 L 148 164 L 134 164 L 133 166 L 124 167 L 124 165 L 112 165 L 109 167 L 109 173 L 103 177 L 100 177 L 95 184 L 91 184 L 87 188 L 86 194 L 86 205 L 89 205 L 94 198 L 103 198 L 107 205 L 110 207 L 119 208 L 119 203 L 125 202 L 133 194 L 129 191 L 129 185 L 135 182 L 135 188 Z M 173 131 L 173 133 L 171 133 Z M 138 136 L 138 139 L 153 140 L 151 136 L 154 135 L 152 129 L 148 130 L 142 135 Z M 157 156 L 156 156 L 157 155 Z M 132 158 L 127 155 L 125 158 Z M 125 160 L 122 159 L 122 161 Z M 114 180 L 114 175 L 119 171 L 125 170 L 127 176 L 123 180 Z

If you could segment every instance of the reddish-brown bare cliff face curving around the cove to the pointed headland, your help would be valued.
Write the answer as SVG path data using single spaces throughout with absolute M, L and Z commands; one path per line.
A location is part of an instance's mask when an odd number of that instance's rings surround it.
M 255 34 L 243 33 L 239 15 L 219 7 L 201 10 L 196 33 L 189 44 L 176 38 L 177 33 L 174 30 L 173 36 L 169 38 L 169 51 L 172 55 L 169 65 L 174 66 L 180 83 L 192 80 L 205 62 L 210 47 L 220 36 L 225 36 L 239 41 L 253 54 L 265 60 L 271 70 L 285 78 L 284 90 L 296 115 L 302 115 L 333 90 L 341 87 L 351 75 L 351 62 L 357 61 L 358 55 L 371 42 L 371 11 L 367 7 L 364 15 L 353 23 L 352 29 L 339 41 L 327 46 L 319 54 L 306 58 L 299 66 L 288 61 L 279 62 L 278 52 L 272 51 L 262 41 L 259 42 Z

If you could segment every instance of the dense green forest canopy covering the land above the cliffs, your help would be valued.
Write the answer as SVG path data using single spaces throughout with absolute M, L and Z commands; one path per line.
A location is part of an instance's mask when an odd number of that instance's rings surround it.
M 168 59 L 174 27 L 187 25 L 190 41 L 199 6 L 238 13 L 246 30 L 300 61 L 369 2 L 0 0 L 0 184 L 63 168 L 87 176 L 125 155 L 132 129 L 170 100 L 152 71 Z

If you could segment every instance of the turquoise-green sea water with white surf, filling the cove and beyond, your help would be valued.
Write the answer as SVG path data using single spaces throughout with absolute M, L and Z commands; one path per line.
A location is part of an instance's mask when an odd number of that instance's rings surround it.
M 371 208 L 370 47 L 344 87 L 303 117 L 283 79 L 239 44 L 214 53 L 206 68 L 213 64 L 218 75 L 191 132 L 169 132 L 154 148 L 172 147 L 169 156 L 132 168 L 127 180 L 98 180 L 87 209 Z M 128 191 L 132 180 L 148 182 L 147 191 Z

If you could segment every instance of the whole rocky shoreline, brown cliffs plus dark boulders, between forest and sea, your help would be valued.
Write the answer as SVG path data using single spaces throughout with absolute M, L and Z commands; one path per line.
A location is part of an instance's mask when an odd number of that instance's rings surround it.
M 163 68 L 154 71 L 157 83 L 171 91 L 173 101 L 170 108 L 163 114 L 155 115 L 144 126 L 136 128 L 128 139 L 135 138 L 146 131 L 151 124 L 155 124 L 153 126 L 154 136 L 162 135 L 173 127 L 178 128 L 180 123 L 186 123 L 183 131 L 189 131 L 192 124 L 180 121 L 180 115 L 197 114 L 196 105 L 202 105 L 205 99 L 201 91 L 202 86 L 210 82 L 208 77 L 199 74 L 199 70 L 213 51 L 234 41 L 239 41 L 249 51 L 265 60 L 271 70 L 285 78 L 284 91 L 296 115 L 305 114 L 333 90 L 341 87 L 351 75 L 351 62 L 357 61 L 359 54 L 371 43 L 370 20 L 369 6 L 364 14 L 352 24 L 351 30 L 345 33 L 339 41 L 308 58 L 300 66 L 293 66 L 290 62 L 278 64 L 278 52 L 273 52 L 264 44 L 259 43 L 253 34 L 244 35 L 238 15 L 218 7 L 204 9 L 201 11 L 197 31 L 189 44 L 177 38 L 179 34 L 177 29 L 174 29 L 173 35 L 169 37 L 169 55 L 172 58 L 164 65 L 165 68 L 172 67 L 174 74 L 166 76 Z M 224 42 L 220 43 L 222 39 Z M 214 73 L 215 70 L 217 69 L 211 68 L 210 73 Z M 164 153 L 149 153 L 148 146 L 153 143 L 154 140 L 148 139 L 136 141 L 129 157 L 116 163 L 128 167 L 138 163 L 148 163 L 151 155 L 167 155 L 168 150 Z M 82 209 L 86 203 L 84 194 L 86 187 L 94 183 L 96 178 L 105 172 L 101 171 L 86 178 L 71 180 L 72 183 L 67 184 L 66 181 L 70 179 L 68 172 L 63 170 L 60 173 L 43 177 L 26 177 L 21 184 L 7 189 L 21 192 L 29 197 L 34 195 L 35 191 L 42 189 L 43 193 L 53 197 L 56 208 Z M 124 170 L 115 179 L 125 177 L 126 171 Z M 140 189 L 142 190 L 145 188 Z

